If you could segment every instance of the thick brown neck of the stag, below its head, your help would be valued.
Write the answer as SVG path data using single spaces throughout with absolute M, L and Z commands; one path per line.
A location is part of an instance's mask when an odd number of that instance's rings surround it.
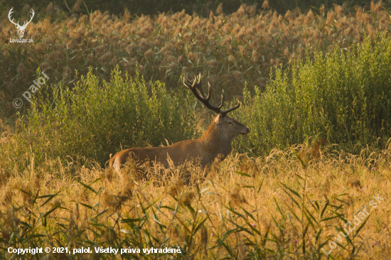
M 223 154 L 225 158 L 232 150 L 229 136 L 215 122 L 212 122 L 205 134 L 200 137 L 200 143 L 205 152 L 213 158 L 219 153 Z

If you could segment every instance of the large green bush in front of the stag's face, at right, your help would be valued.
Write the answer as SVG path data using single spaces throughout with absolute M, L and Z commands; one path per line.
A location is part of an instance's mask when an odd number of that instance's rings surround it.
M 251 133 L 237 148 L 264 154 L 319 135 L 353 153 L 381 146 L 391 136 L 390 67 L 391 40 L 380 36 L 276 68 L 264 93 L 244 92 L 247 106 L 236 117 Z

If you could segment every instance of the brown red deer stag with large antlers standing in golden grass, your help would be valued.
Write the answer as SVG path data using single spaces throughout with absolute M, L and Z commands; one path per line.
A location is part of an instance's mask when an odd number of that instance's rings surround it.
M 180 141 L 165 147 L 149 147 L 149 148 L 130 148 L 116 153 L 109 161 L 109 166 L 114 167 L 119 171 L 120 166 L 126 163 L 128 156 L 136 161 L 141 162 L 159 162 L 168 168 L 168 157 L 173 161 L 174 165 L 184 163 L 186 160 L 200 160 L 200 165 L 205 168 L 208 163 L 211 163 L 216 157 L 223 161 L 230 154 L 231 142 L 240 134 L 248 134 L 250 129 L 243 124 L 240 124 L 235 119 L 227 117 L 227 114 L 232 110 L 237 109 L 240 103 L 237 102 L 235 107 L 221 110 L 224 104 L 224 90 L 221 95 L 221 102 L 218 105 L 209 103 L 210 99 L 210 84 L 208 82 L 208 97 L 205 98 L 201 87 L 200 77 L 194 79 L 191 83 L 186 76 L 183 76 L 183 84 L 188 87 L 195 97 L 200 102 L 205 104 L 208 109 L 218 114 L 208 127 L 208 130 L 199 139 Z

